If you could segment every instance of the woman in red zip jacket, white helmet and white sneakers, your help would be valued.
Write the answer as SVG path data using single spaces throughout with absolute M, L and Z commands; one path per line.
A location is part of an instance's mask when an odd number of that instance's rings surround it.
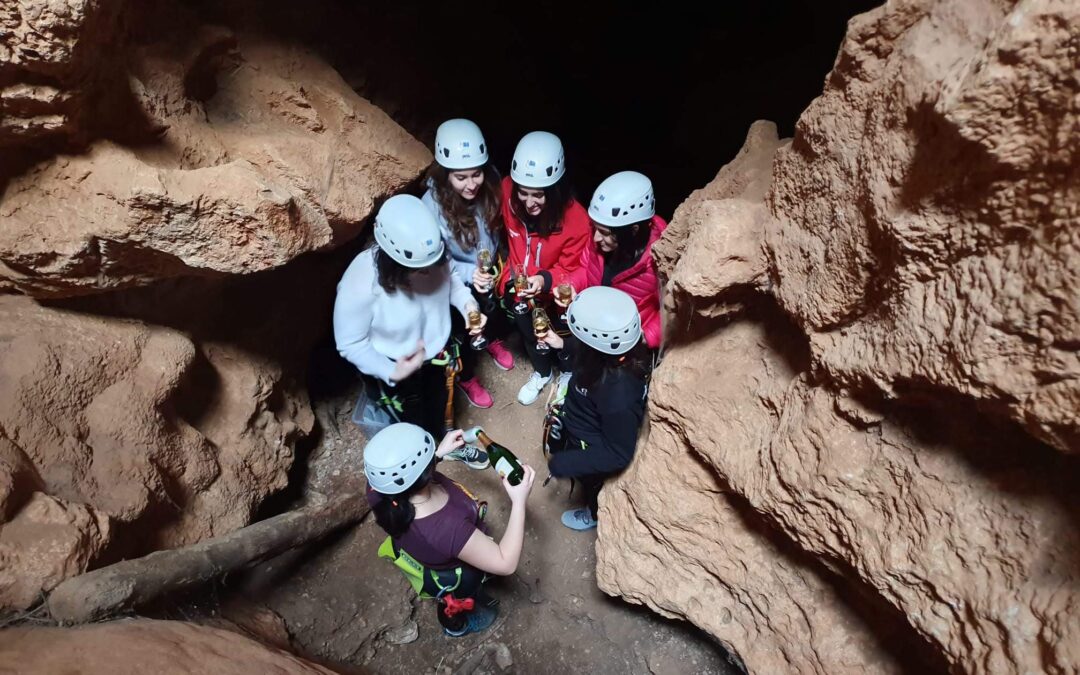
M 565 176 L 566 159 L 558 136 L 532 132 L 522 138 L 514 150 L 510 176 L 502 180 L 508 265 L 498 280 L 483 273 L 473 276 L 481 293 L 495 284 L 524 338 L 534 373 L 517 393 L 523 405 L 536 401 L 551 381 L 554 362 L 550 349 L 537 349 L 531 309 L 546 308 L 553 328 L 566 329 L 559 318 L 562 310 L 552 307 L 552 285 L 577 271 L 581 252 L 589 243 L 589 215 L 573 199 Z M 528 280 L 519 293 L 513 284 L 517 270 L 524 270 Z M 524 308 L 524 312 L 515 312 L 515 307 Z M 564 379 L 569 379 L 568 373 L 559 376 L 561 386 Z

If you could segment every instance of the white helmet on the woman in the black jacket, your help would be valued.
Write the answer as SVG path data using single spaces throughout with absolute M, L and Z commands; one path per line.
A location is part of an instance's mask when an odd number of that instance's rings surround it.
M 642 315 L 634 298 L 610 286 L 591 286 L 566 310 L 579 340 L 605 354 L 625 354 L 642 339 Z

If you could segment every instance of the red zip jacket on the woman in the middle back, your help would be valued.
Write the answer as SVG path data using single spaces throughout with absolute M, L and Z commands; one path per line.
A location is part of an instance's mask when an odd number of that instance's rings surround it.
M 589 214 L 577 200 L 570 202 L 563 216 L 562 228 L 551 237 L 529 234 L 525 224 L 517 219 L 510 208 L 514 197 L 514 183 L 510 177 L 502 179 L 502 221 L 507 226 L 507 247 L 509 265 L 502 270 L 496 288 L 501 294 L 515 266 L 526 266 L 529 275 L 545 271 L 551 274 L 551 283 L 557 284 L 581 264 L 581 252 L 592 237 Z

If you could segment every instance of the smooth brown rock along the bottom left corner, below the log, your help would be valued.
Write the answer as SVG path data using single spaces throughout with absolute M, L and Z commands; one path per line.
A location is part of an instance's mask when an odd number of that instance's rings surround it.
M 26 675 L 321 674 L 322 666 L 230 631 L 136 619 L 75 629 L 23 627 L 0 632 L 0 673 L 18 664 Z

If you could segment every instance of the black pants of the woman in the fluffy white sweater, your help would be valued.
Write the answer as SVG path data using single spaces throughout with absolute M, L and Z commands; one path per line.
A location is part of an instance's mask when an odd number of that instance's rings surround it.
M 430 433 L 437 444 L 444 433 L 446 413 L 446 366 L 426 361 L 420 369 L 390 387 L 364 376 L 364 386 L 378 404 L 401 422 L 411 422 Z

